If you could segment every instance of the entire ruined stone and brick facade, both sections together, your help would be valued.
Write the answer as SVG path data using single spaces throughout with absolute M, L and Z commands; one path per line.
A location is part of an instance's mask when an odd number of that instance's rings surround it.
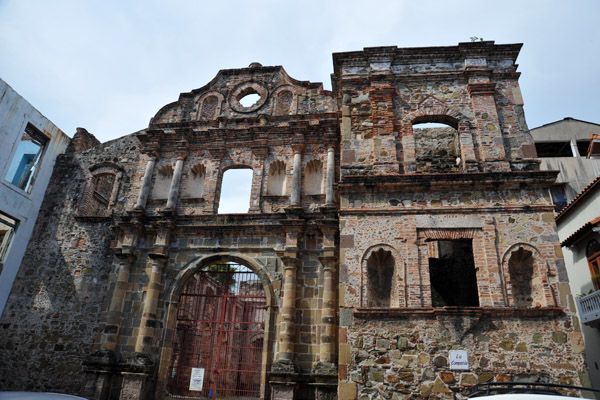
M 581 383 L 555 173 L 532 154 L 519 49 L 334 54 L 333 91 L 253 63 L 135 134 L 93 146 L 82 130 L 0 322 L 0 386 L 165 398 L 183 373 L 183 288 L 227 262 L 264 290 L 261 398 Z M 218 214 L 231 168 L 252 170 L 245 214 Z

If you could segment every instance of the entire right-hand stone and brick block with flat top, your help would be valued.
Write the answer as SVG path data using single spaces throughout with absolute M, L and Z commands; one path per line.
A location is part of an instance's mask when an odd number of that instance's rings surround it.
M 453 398 L 480 382 L 584 381 L 548 197 L 555 175 L 538 172 L 531 152 L 518 50 L 487 42 L 334 55 L 340 399 Z M 418 128 L 428 122 L 451 128 Z M 467 306 L 440 305 L 434 283 L 444 282 L 432 274 L 442 242 L 472 252 L 471 271 L 458 270 L 458 279 L 476 281 L 475 298 L 460 299 Z M 371 283 L 377 274 L 391 281 L 387 299 Z M 450 350 L 468 352 L 468 370 L 450 368 Z

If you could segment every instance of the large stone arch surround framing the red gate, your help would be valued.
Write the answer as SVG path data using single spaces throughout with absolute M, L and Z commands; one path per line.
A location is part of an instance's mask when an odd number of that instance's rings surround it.
M 239 253 L 215 253 L 207 256 L 199 256 L 190 262 L 188 262 L 181 271 L 177 274 L 173 282 L 166 289 L 166 304 L 167 310 L 164 319 L 164 329 L 162 332 L 162 347 L 160 351 L 159 369 L 158 369 L 158 383 L 163 384 L 166 387 L 169 374 L 169 366 L 171 364 L 171 356 L 173 352 L 173 339 L 177 324 L 177 313 L 179 306 L 180 295 L 189 281 L 197 272 L 201 271 L 208 265 L 233 261 L 238 264 L 250 268 L 260 279 L 265 296 L 267 298 L 267 312 L 265 315 L 265 330 L 263 337 L 263 369 L 261 376 L 261 382 L 266 382 L 266 373 L 269 369 L 270 363 L 273 361 L 273 348 L 276 338 L 275 332 L 275 319 L 279 309 L 279 301 L 275 296 L 275 290 L 273 288 L 272 279 L 264 267 L 252 257 L 248 257 Z M 264 367 L 266 365 L 266 367 Z M 262 383 L 261 385 L 263 385 Z

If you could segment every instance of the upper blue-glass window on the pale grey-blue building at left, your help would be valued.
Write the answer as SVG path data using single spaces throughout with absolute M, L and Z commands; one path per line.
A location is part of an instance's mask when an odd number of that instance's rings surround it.
M 12 158 L 5 179 L 27 193 L 31 192 L 48 138 L 28 124 Z

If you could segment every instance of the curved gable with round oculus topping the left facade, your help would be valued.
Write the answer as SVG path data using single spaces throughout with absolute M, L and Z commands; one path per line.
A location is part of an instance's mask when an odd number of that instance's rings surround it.
M 244 107 L 240 100 L 248 94 L 260 99 Z M 221 70 L 207 85 L 163 107 L 150 121 L 151 127 L 163 124 L 196 122 L 211 124 L 224 119 L 280 117 L 335 112 L 333 95 L 323 84 L 298 81 L 280 66 Z

